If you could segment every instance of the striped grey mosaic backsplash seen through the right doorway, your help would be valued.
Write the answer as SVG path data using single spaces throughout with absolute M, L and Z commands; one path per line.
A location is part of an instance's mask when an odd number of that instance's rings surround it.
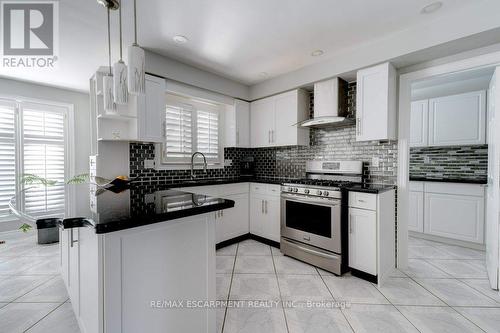
M 411 148 L 410 177 L 485 180 L 488 145 Z

